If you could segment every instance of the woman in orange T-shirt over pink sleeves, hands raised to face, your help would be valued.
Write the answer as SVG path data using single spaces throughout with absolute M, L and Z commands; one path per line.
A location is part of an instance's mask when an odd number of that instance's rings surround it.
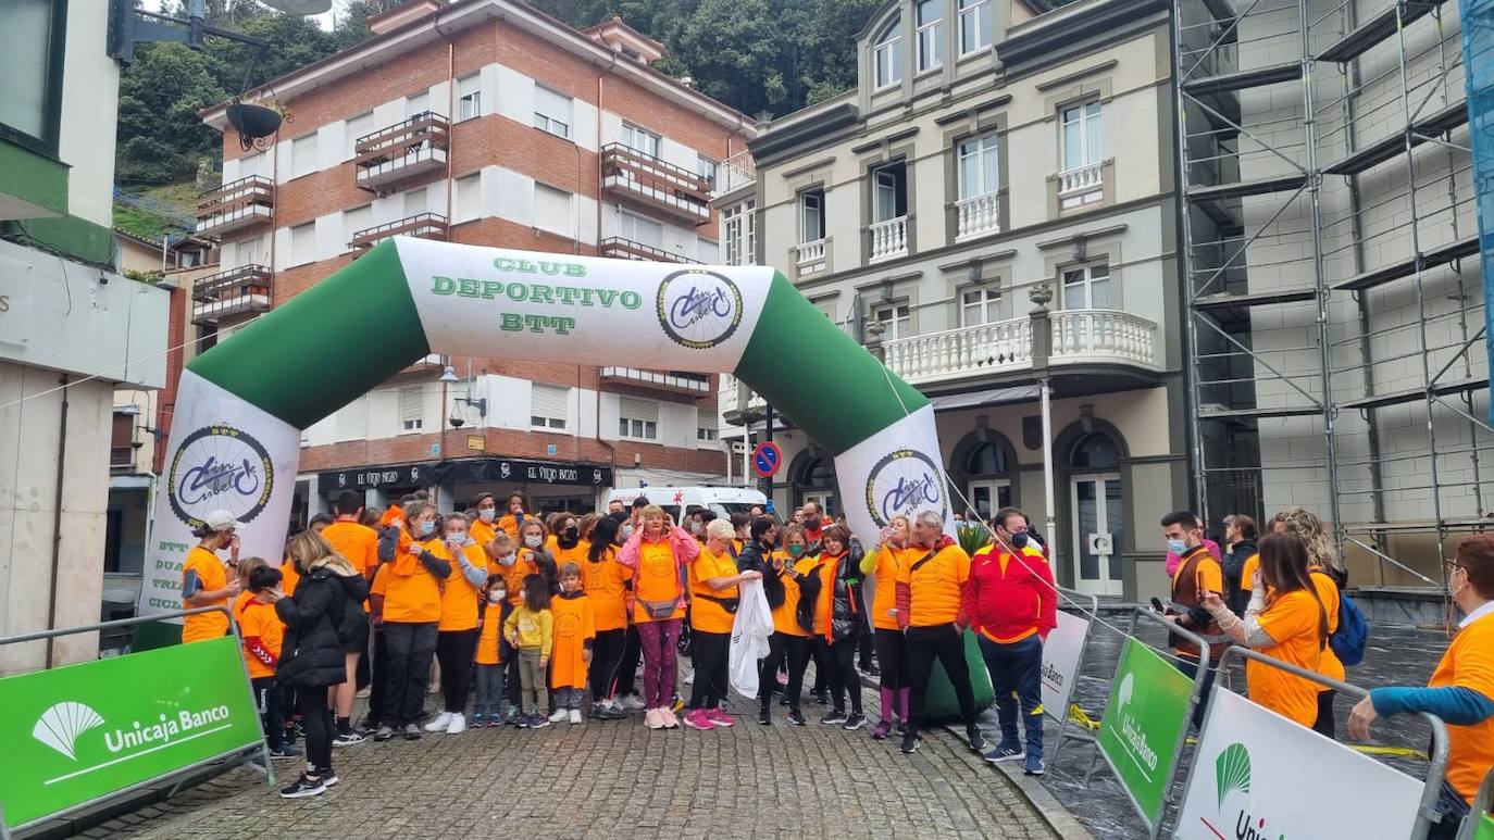
M 644 725 L 672 730 L 680 725 L 669 709 L 674 692 L 675 646 L 684 618 L 684 583 L 680 571 L 701 554 L 701 543 L 675 525 L 657 504 L 642 510 L 644 527 L 633 531 L 617 561 L 632 576 L 632 613 L 644 656 Z

